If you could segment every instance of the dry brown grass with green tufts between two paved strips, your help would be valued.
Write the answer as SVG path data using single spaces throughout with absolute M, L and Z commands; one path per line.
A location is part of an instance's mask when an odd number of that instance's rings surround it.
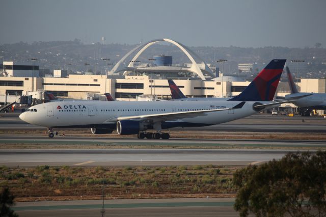
M 0 168 L 0 187 L 10 187 L 17 201 L 235 196 L 236 168 L 48 167 Z

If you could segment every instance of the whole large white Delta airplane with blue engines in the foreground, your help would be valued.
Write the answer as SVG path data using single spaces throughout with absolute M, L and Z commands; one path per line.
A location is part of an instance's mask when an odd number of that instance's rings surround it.
M 52 128 L 92 127 L 139 139 L 169 139 L 162 129 L 229 122 L 286 102 L 271 102 L 286 60 L 272 60 L 238 96 L 218 101 L 62 101 L 34 105 L 19 118 Z M 287 101 L 288 102 L 288 101 Z M 156 130 L 154 133 L 147 129 Z

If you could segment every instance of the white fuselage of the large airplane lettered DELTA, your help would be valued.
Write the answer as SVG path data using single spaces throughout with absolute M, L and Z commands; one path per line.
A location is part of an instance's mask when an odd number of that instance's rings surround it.
M 30 107 L 20 118 L 28 123 L 45 127 L 73 127 L 79 125 L 115 124 L 125 116 L 164 114 L 184 111 L 231 108 L 241 101 L 61 101 Z M 204 116 L 181 118 L 168 122 L 191 123 L 194 126 L 225 123 L 257 113 L 255 101 L 244 103 L 241 108 L 208 112 Z M 266 103 L 261 101 L 261 103 Z M 268 102 L 267 102 L 268 103 Z M 36 110 L 36 111 L 35 111 Z

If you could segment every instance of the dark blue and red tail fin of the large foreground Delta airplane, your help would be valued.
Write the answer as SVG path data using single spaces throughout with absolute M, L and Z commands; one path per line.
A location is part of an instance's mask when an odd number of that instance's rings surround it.
M 283 72 L 286 60 L 272 60 L 252 83 L 231 101 L 271 101 Z

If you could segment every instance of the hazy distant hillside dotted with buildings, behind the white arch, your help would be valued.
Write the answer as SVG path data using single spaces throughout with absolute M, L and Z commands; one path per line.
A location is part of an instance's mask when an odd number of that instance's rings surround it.
M 69 68 L 73 71 L 85 71 L 96 68 L 96 71 L 104 70 L 105 63 L 101 58 L 111 59 L 113 65 L 118 62 L 129 50 L 136 45 L 128 44 L 82 44 L 78 39 L 74 41 L 52 41 L 15 43 L 0 45 L 1 60 L 6 61 L 29 61 L 32 57 L 38 59 L 40 68 L 52 69 Z M 326 49 L 324 48 L 287 48 L 287 47 L 190 47 L 206 63 L 219 66 L 216 60 L 227 59 L 224 64 L 225 74 L 237 74 L 239 63 L 257 63 L 260 71 L 263 63 L 271 59 L 287 59 L 287 65 L 296 72 L 298 67 L 299 76 L 302 77 L 325 77 L 326 76 Z M 174 64 L 189 63 L 187 57 L 173 45 L 156 44 L 148 48 L 139 60 L 147 63 L 153 55 L 172 55 Z M 305 60 L 298 65 L 290 63 L 290 60 Z M 127 63 L 130 59 L 127 60 Z M 89 65 L 85 65 L 85 63 Z M 127 64 L 126 63 L 126 64 Z M 97 66 L 95 66 L 98 64 Z M 111 66 L 112 67 L 112 66 Z M 221 66 L 222 68 L 222 66 Z

